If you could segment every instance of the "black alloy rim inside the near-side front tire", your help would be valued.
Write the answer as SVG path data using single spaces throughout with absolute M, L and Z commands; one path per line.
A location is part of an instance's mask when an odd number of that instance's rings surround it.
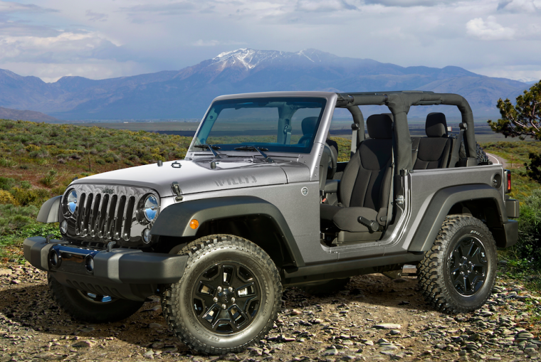
M 246 265 L 219 262 L 198 279 L 191 298 L 203 326 L 219 334 L 231 334 L 251 324 L 259 311 L 261 288 Z

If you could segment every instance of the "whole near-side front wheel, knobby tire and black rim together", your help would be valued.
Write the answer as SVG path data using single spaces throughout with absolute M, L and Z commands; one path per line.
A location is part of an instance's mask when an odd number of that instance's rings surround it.
M 250 241 L 209 235 L 189 255 L 182 279 L 162 293 L 162 310 L 177 337 L 195 351 L 243 351 L 267 334 L 278 316 L 282 284 L 273 260 Z

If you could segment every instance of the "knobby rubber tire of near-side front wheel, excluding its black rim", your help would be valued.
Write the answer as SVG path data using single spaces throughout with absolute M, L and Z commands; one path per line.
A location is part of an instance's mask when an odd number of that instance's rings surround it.
M 166 287 L 161 297 L 162 311 L 167 324 L 184 344 L 201 353 L 224 354 L 243 351 L 246 347 L 258 343 L 268 333 L 278 316 L 282 284 L 273 260 L 261 247 L 233 235 L 209 235 L 190 243 L 179 251 L 179 255 L 189 255 L 184 275 L 179 282 Z M 251 321 L 243 329 L 219 333 L 211 330 L 210 326 L 214 320 L 206 324 L 207 321 L 204 319 L 213 306 L 206 307 L 204 304 L 204 308 L 201 308 L 203 312 L 199 312 L 198 315 L 195 310 L 196 301 L 191 298 L 196 295 L 196 290 L 199 291 L 194 288 L 197 288 L 195 286 L 197 283 L 201 283 L 199 281 L 201 276 L 207 275 L 214 265 L 225 268 L 230 264 L 241 265 L 235 269 L 239 270 L 238 273 L 242 267 L 246 267 L 252 273 L 251 277 L 256 280 L 260 291 L 261 302 L 256 314 L 248 319 Z M 231 296 L 238 297 L 237 293 L 240 292 L 233 292 Z M 209 292 L 209 295 L 216 294 Z M 223 301 L 219 303 L 221 302 Z M 230 308 L 234 305 L 227 307 L 227 310 L 232 310 Z M 248 302 L 244 305 L 248 305 Z M 222 312 L 218 313 L 216 318 L 223 315 Z

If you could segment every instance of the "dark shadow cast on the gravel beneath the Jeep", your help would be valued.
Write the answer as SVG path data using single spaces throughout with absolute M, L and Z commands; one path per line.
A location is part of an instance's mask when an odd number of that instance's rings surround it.
M 287 288 L 284 291 L 283 311 L 317 304 L 356 304 L 361 308 L 358 309 L 359 312 L 362 312 L 363 306 L 365 311 L 374 307 L 419 309 L 419 312 L 431 310 L 424 303 L 421 293 L 416 291 L 414 277 L 404 277 L 401 282 L 377 274 L 352 277 L 350 283 L 342 290 L 323 296 L 312 296 L 298 287 Z M 107 324 L 85 324 L 71 319 L 63 312 L 53 301 L 46 282 L 36 280 L 33 283 L 1 289 L 0 312 L 24 328 L 49 334 L 53 339 L 79 337 L 99 341 L 114 337 L 128 344 L 140 346 L 142 353 L 146 348 L 152 348 L 154 351 L 160 349 L 171 351 L 176 348 L 178 353 L 190 353 L 189 348 L 167 327 L 158 297 L 152 297 L 152 302 L 145 302 L 138 312 L 125 320 Z

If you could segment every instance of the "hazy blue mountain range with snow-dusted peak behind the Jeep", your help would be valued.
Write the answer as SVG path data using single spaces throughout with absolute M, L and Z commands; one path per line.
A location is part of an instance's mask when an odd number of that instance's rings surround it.
M 447 66 L 401 67 L 320 50 L 238 49 L 182 70 L 90 80 L 40 78 L 0 70 L 0 106 L 63 120 L 200 118 L 224 94 L 272 90 L 367 92 L 431 90 L 463 95 L 476 119 L 498 117 L 498 98 L 514 100 L 530 84 Z M 418 112 L 418 110 L 413 110 Z

